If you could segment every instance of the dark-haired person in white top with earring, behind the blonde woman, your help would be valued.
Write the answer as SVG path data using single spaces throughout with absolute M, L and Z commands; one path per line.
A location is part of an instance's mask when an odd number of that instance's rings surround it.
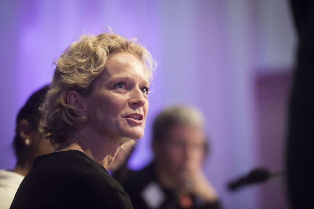
M 35 157 L 53 151 L 51 143 L 44 140 L 38 130 L 39 107 L 47 91 L 48 86 L 45 86 L 32 94 L 17 115 L 13 140 L 17 163 L 13 171 L 0 170 L 0 209 L 10 207 L 20 183 L 33 166 Z

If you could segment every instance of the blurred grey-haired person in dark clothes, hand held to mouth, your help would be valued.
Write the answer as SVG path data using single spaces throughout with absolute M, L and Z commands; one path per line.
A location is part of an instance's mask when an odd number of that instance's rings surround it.
M 198 109 L 163 110 L 154 120 L 151 145 L 152 163 L 120 180 L 134 208 L 221 208 L 202 169 L 208 140 Z

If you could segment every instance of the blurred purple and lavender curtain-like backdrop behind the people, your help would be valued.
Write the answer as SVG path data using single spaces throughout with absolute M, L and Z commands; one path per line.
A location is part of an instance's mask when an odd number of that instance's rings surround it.
M 145 135 L 129 166 L 152 158 L 160 110 L 195 105 L 211 141 L 206 176 L 225 208 L 289 208 L 284 177 L 235 192 L 226 184 L 257 166 L 284 172 L 296 46 L 290 13 L 286 0 L 1 1 L 0 168 L 15 164 L 17 111 L 50 82 L 53 61 L 79 35 L 109 26 L 138 38 L 158 62 Z

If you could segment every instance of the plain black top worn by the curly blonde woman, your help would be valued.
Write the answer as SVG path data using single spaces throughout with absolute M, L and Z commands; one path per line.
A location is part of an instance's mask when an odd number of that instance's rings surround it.
M 133 208 L 121 184 L 83 152 L 35 158 L 14 197 L 14 208 Z

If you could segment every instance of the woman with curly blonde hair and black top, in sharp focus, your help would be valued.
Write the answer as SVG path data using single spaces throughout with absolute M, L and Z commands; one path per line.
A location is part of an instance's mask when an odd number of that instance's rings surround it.
M 134 40 L 102 33 L 81 36 L 56 65 L 42 131 L 57 148 L 35 159 L 11 208 L 133 208 L 106 169 L 143 136 L 154 60 Z

